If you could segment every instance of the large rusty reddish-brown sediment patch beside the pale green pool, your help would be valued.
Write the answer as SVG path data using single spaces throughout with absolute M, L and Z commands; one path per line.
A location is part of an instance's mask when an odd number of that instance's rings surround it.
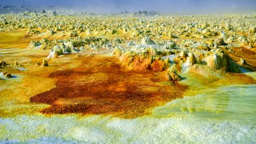
M 55 71 L 56 87 L 30 98 L 51 104 L 44 114 L 113 114 L 134 118 L 150 108 L 182 98 L 186 86 L 146 71 L 128 71 L 113 57 L 83 57 L 82 65 Z

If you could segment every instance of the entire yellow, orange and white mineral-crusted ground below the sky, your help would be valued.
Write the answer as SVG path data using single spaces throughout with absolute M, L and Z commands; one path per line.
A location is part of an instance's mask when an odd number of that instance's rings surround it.
M 256 143 L 255 13 L 0 15 L 0 143 Z

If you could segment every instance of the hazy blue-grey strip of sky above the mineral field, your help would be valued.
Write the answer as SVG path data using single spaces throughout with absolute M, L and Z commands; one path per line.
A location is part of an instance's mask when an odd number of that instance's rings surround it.
M 0 5 L 58 5 L 85 11 L 256 11 L 256 0 L 0 0 Z

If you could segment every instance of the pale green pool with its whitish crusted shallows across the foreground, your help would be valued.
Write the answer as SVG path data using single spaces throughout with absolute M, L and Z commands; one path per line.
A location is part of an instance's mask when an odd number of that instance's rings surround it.
M 256 143 L 255 93 L 256 85 L 208 88 L 133 119 L 39 113 L 0 118 L 0 143 Z

